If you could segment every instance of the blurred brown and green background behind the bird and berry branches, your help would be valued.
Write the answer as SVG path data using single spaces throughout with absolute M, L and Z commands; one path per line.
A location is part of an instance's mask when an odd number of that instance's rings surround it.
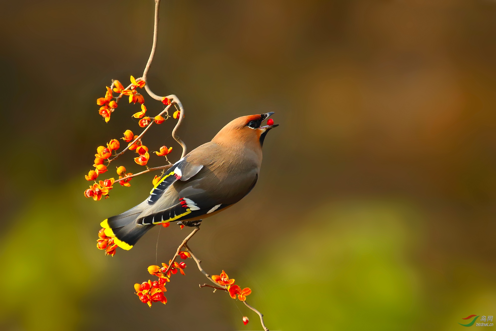
M 147 174 L 83 197 L 95 148 L 138 129 L 138 105 L 105 124 L 95 100 L 141 75 L 153 6 L 1 1 L 0 330 L 261 330 L 198 288 L 191 260 L 167 305 L 138 300 L 133 284 L 187 229 L 156 227 L 114 258 L 95 247 L 100 221 L 151 187 Z M 495 1 L 163 0 L 160 16 L 149 84 L 183 102 L 189 149 L 238 116 L 281 124 L 255 189 L 190 241 L 207 272 L 253 290 L 270 330 L 459 330 L 496 315 Z M 173 126 L 144 142 L 177 160 Z

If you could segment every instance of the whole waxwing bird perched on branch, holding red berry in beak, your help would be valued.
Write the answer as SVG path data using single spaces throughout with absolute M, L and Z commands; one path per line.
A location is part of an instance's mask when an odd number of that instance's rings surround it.
M 265 136 L 279 125 L 269 120 L 270 125 L 262 126 L 272 114 L 229 122 L 211 141 L 174 163 L 146 200 L 101 222 L 105 235 L 130 250 L 157 224 L 177 220 L 180 225 L 199 226 L 246 197 L 258 180 Z

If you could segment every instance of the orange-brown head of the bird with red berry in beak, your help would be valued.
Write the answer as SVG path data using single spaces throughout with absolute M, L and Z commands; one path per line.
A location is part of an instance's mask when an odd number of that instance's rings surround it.
M 222 128 L 212 141 L 220 144 L 238 142 L 245 145 L 262 147 L 267 132 L 279 125 L 271 123 L 270 125 L 262 126 L 262 122 L 268 119 L 272 114 L 274 114 L 274 112 L 238 117 Z

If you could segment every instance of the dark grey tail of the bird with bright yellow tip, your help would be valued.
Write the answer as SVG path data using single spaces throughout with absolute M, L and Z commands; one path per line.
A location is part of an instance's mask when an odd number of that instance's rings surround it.
M 104 220 L 100 225 L 105 228 L 105 234 L 114 238 L 114 243 L 124 250 L 130 250 L 146 231 L 154 225 L 138 224 L 142 210 L 136 207 L 129 209 L 122 214 L 112 216 Z

